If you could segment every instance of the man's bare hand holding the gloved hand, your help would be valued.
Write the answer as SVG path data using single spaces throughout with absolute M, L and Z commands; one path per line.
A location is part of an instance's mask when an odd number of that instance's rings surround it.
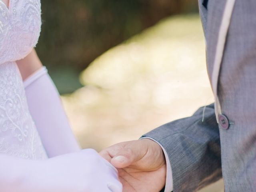
M 123 192 L 159 192 L 165 185 L 164 153 L 153 140 L 118 143 L 102 150 L 100 155 L 118 168 Z

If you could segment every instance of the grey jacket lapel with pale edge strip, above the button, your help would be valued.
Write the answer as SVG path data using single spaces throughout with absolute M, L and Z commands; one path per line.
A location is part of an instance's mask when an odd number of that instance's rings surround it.
M 208 25 L 206 28 L 207 66 L 215 98 L 217 119 L 218 114 L 221 114 L 217 96 L 218 78 L 234 3 L 235 0 L 210 0 L 208 2 Z

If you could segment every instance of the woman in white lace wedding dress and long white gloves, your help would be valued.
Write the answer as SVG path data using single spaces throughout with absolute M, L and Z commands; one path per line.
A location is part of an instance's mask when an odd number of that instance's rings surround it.
M 34 46 L 40 0 L 0 0 L 0 191 L 120 192 L 116 170 L 80 150 Z

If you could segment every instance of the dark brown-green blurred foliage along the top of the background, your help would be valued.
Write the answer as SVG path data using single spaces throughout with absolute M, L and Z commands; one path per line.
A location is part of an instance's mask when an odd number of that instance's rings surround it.
M 160 19 L 197 9 L 197 0 L 44 0 L 36 50 L 48 68 L 81 70 Z

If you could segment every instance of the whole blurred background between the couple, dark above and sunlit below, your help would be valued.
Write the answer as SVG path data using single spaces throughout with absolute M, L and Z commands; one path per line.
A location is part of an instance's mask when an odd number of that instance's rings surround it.
M 42 20 L 36 50 L 83 148 L 136 140 L 213 102 L 197 0 L 44 0 Z

